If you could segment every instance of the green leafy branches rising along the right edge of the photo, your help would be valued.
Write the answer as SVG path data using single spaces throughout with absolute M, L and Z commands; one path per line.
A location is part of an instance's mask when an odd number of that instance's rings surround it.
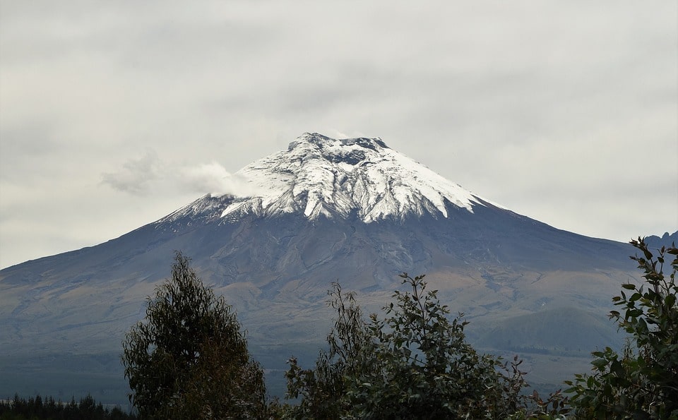
M 678 419 L 678 248 L 662 247 L 658 256 L 643 239 L 631 241 L 632 256 L 646 284 L 622 284 L 612 301 L 621 311 L 610 318 L 631 334 L 621 355 L 609 347 L 593 352 L 590 375 L 576 375 L 567 392 L 579 416 L 590 418 Z M 666 258 L 670 275 L 664 274 Z

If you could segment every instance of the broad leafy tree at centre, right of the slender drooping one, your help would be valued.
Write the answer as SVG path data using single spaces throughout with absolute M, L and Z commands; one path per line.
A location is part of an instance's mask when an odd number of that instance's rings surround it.
M 465 341 L 468 323 L 448 308 L 424 276 L 401 275 L 412 292 L 396 291 L 387 317 L 371 316 L 376 368 L 351 378 L 348 395 L 364 418 L 505 418 L 518 410 L 522 376 L 502 373 L 501 360 Z

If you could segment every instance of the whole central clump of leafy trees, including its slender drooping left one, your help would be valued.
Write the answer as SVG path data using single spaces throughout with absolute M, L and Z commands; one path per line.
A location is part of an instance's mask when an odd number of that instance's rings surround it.
M 465 341 L 468 323 L 459 314 L 448 320 L 448 308 L 436 291 L 427 292 L 424 276 L 404 273 L 411 292 L 395 292 L 384 309 L 367 323 L 354 294 L 330 292 L 338 317 L 315 369 L 303 370 L 295 359 L 287 371 L 287 407 L 292 418 L 439 419 L 533 418 L 523 397 L 524 373 L 514 359 L 479 354 Z M 534 397 L 538 400 L 538 395 Z M 545 417 L 565 413 L 559 395 Z M 543 404 L 543 402 L 542 402 Z M 534 417 L 537 418 L 537 417 Z M 542 417 L 540 417 L 542 418 Z

